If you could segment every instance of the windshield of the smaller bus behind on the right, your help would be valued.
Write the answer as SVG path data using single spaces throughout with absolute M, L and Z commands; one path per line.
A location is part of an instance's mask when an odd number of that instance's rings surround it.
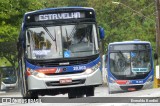
M 142 79 L 151 71 L 150 50 L 118 50 L 110 53 L 110 71 L 117 79 Z

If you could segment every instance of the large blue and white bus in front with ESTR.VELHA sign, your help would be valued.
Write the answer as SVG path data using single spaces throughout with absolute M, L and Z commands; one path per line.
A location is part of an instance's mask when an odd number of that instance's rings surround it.
M 23 97 L 93 96 L 102 84 L 99 33 L 93 8 L 27 12 L 17 43 Z

